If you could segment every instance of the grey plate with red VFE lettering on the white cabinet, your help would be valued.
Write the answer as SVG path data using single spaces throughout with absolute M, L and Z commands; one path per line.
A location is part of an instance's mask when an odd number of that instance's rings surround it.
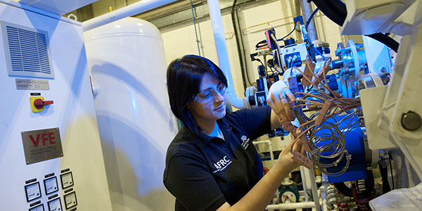
M 58 128 L 21 132 L 26 164 L 63 157 Z

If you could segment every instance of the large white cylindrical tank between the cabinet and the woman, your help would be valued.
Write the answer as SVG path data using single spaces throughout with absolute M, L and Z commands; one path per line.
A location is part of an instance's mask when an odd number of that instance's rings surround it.
M 160 31 L 124 18 L 84 32 L 84 40 L 113 210 L 174 210 L 162 184 L 177 127 Z

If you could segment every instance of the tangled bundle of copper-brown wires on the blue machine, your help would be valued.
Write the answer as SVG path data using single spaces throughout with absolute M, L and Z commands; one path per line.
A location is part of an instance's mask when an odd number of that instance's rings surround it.
M 293 67 L 302 74 L 302 84 L 312 87 L 308 91 L 296 92 L 297 98 L 295 101 L 290 101 L 290 105 L 300 123 L 300 126 L 295 128 L 296 131 L 292 133 L 294 136 L 296 135 L 293 141 L 300 140 L 302 144 L 309 145 L 310 151 L 308 151 L 307 157 L 314 162 L 314 168 L 335 177 L 343 174 L 349 166 L 351 156 L 345 148 L 345 134 L 360 126 L 359 121 L 356 121 L 357 112 L 354 109 L 359 108 L 361 103 L 359 99 L 344 98 L 331 90 L 326 80 L 330 63 L 331 58 L 325 60 L 324 66 L 317 74 L 314 74 L 315 65 L 309 56 L 305 72 Z M 307 87 L 306 85 L 304 87 Z M 298 98 L 298 96 L 301 97 Z M 302 110 L 304 107 L 317 111 L 308 117 Z M 347 115 L 344 115 L 343 119 L 339 121 L 334 118 L 342 114 Z M 332 121 L 327 121 L 330 118 Z M 346 127 L 340 129 L 342 122 L 347 122 Z M 286 125 L 286 122 L 282 122 L 282 124 Z M 290 130 L 292 130 L 291 125 Z M 290 148 L 290 153 L 293 153 L 292 148 Z M 324 159 L 324 162 L 321 162 L 321 158 Z M 327 168 L 337 166 L 344 158 L 346 164 L 342 170 L 327 171 Z M 326 163 L 327 160 L 329 163 Z

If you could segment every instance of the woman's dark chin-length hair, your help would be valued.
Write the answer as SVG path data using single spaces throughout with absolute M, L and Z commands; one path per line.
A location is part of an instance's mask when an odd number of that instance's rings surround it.
M 188 103 L 198 94 L 203 75 L 215 76 L 227 87 L 227 80 L 222 70 L 211 60 L 201 56 L 186 55 L 177 58 L 167 68 L 167 91 L 170 107 L 174 115 L 192 132 L 199 134 Z

